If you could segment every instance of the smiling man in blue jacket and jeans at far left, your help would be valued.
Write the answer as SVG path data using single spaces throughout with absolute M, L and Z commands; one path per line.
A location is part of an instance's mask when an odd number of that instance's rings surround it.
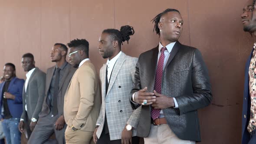
M 3 133 L 7 144 L 20 144 L 20 131 L 18 124 L 22 114 L 23 79 L 16 77 L 15 65 L 6 63 L 3 67 L 5 81 L 0 84 L 0 108 L 3 107 L 2 121 Z

